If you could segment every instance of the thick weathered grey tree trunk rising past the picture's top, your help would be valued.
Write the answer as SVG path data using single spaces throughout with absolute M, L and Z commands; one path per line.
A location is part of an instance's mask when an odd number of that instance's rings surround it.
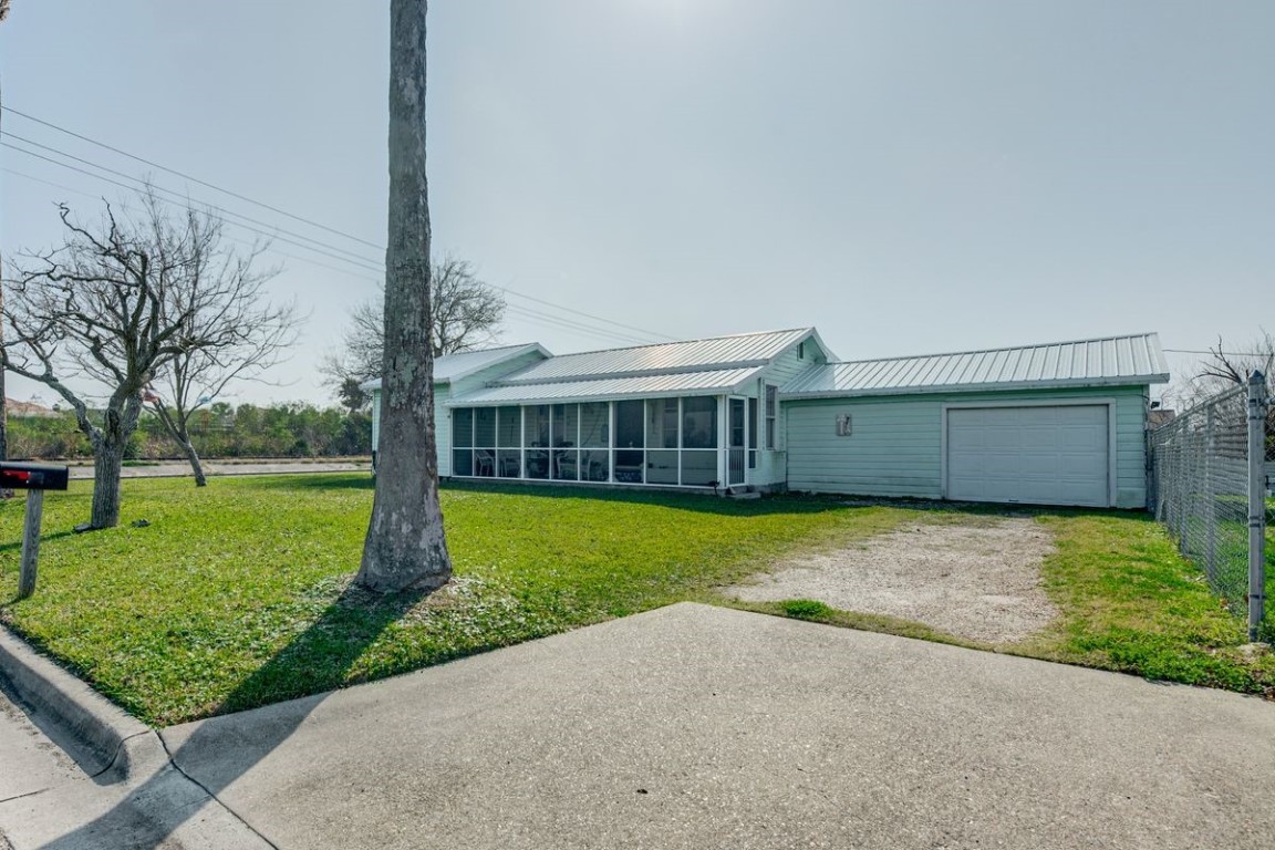
M 430 204 L 425 173 L 426 0 L 390 3 L 390 204 L 380 473 L 356 581 L 431 590 L 451 577 L 442 533 L 430 345 Z

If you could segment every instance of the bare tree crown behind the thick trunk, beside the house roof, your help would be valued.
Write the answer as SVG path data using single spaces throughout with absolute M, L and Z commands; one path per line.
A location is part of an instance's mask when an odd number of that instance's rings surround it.
M 505 297 L 474 273 L 465 260 L 444 256 L 430 264 L 430 347 L 435 357 L 468 352 L 496 342 L 505 320 Z M 324 357 L 319 368 L 340 394 L 349 380 L 381 376 L 385 350 L 385 288 L 380 297 L 349 311 L 342 349 Z

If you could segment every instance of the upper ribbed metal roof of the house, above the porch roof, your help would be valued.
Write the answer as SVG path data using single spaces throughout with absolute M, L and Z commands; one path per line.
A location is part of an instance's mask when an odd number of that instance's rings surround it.
M 797 328 L 561 354 L 509 376 L 501 380 L 501 384 L 552 384 L 601 377 L 639 377 L 765 366 L 789 347 L 808 336 L 815 336 L 820 348 L 827 350 L 813 328 Z

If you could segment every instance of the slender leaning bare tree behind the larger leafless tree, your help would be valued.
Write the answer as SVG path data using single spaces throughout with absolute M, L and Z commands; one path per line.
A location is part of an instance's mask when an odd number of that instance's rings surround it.
M 218 243 L 222 222 L 209 219 L 207 226 L 212 242 Z M 198 257 L 200 265 L 189 274 L 212 278 L 224 292 L 221 298 L 200 301 L 189 308 L 178 305 L 187 325 L 182 336 L 205 344 L 176 354 L 143 394 L 164 431 L 185 452 L 196 487 L 207 486 L 208 479 L 190 438 L 190 418 L 229 384 L 260 378 L 297 342 L 300 320 L 295 303 L 274 305 L 266 297 L 265 284 L 278 269 L 252 270 L 263 250 L 255 246 L 249 254 L 236 255 L 218 249 Z M 191 292 L 201 288 L 207 285 L 191 287 Z

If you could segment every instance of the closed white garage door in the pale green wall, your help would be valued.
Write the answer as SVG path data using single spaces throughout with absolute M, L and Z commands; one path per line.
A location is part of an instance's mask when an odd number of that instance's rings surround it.
M 1107 405 L 947 410 L 947 498 L 1107 506 Z

